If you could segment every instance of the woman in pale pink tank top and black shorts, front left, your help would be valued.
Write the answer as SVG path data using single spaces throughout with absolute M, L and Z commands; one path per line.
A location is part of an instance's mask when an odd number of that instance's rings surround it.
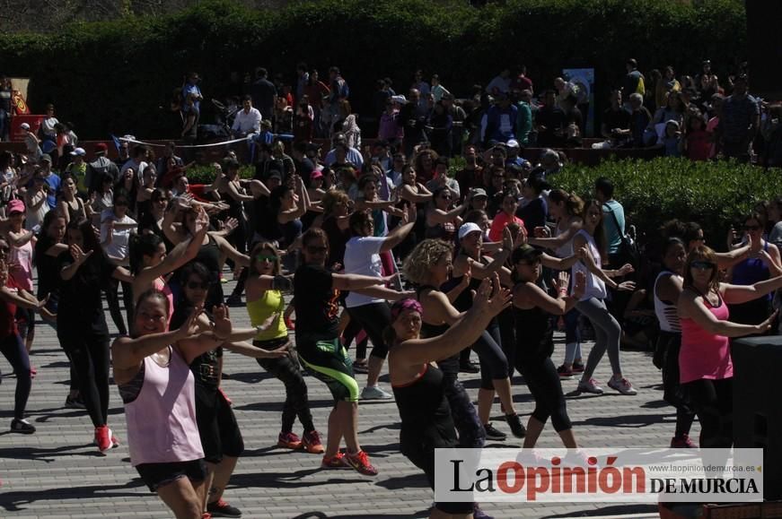
M 138 298 L 132 337 L 111 345 L 114 380 L 125 402 L 130 461 L 177 517 L 200 519 L 206 498 L 204 452 L 198 437 L 190 362 L 229 339 L 227 309 L 215 307 L 211 331 L 198 332 L 197 307 L 168 331 L 168 298 L 148 290 Z

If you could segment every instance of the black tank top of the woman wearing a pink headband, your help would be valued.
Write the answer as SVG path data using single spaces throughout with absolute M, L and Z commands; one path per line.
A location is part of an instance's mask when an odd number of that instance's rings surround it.
M 405 440 L 421 442 L 432 439 L 439 444 L 434 447 L 455 445 L 456 428 L 445 399 L 443 377 L 440 369 L 426 364 L 423 374 L 415 381 L 392 387 L 402 420 L 401 445 L 406 445 Z

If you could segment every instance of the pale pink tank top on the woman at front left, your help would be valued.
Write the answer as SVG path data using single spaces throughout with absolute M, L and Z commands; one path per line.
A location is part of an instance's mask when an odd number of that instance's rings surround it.
M 196 423 L 193 374 L 175 348 L 167 368 L 144 359 L 144 383 L 125 404 L 130 463 L 190 462 L 204 457 Z

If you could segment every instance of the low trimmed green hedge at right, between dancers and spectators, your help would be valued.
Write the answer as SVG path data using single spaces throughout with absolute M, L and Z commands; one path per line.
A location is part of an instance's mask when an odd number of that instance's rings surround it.
M 609 160 L 588 168 L 567 165 L 552 183 L 569 193 L 590 197 L 594 181 L 607 177 L 625 209 L 628 225 L 640 242 L 654 241 L 665 221 L 697 221 L 707 244 L 725 250 L 725 236 L 760 201 L 782 195 L 778 169 L 735 162 L 693 162 L 687 159 Z

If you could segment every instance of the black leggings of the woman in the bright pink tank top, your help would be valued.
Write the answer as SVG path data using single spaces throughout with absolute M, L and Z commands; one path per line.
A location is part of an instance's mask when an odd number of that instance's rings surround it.
M 700 447 L 734 445 L 734 379 L 701 378 L 682 384 L 700 422 Z

